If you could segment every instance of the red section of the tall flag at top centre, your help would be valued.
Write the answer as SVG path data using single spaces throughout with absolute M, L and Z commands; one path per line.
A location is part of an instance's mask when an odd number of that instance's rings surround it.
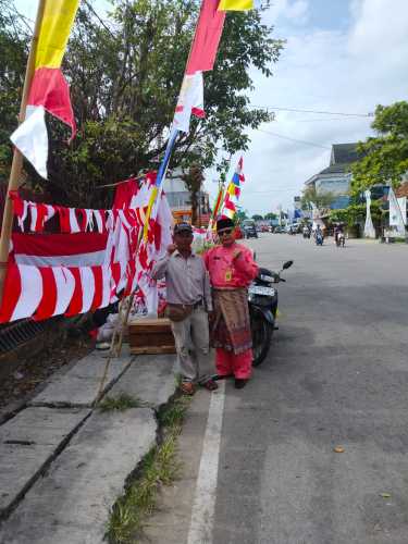
M 225 12 L 218 11 L 219 3 L 220 0 L 202 1 L 186 74 L 212 70 L 225 20 Z

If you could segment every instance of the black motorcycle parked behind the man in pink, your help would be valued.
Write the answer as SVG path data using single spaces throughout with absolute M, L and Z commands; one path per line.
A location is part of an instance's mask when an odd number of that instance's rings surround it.
M 280 272 L 260 268 L 257 277 L 248 288 L 250 330 L 252 335 L 252 366 L 258 367 L 267 357 L 271 346 L 277 313 L 277 289 L 274 283 L 285 282 L 281 273 L 292 267 L 294 261 L 286 261 Z

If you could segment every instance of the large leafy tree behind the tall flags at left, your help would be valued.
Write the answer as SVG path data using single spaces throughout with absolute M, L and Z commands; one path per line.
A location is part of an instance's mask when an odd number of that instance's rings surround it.
M 4 0 L 0 2 L 7 5 Z M 158 166 L 199 3 L 113 0 L 112 14 L 103 24 L 88 3 L 82 3 L 63 63 L 78 134 L 66 146 L 66 128 L 48 119 L 52 135 L 49 181 L 38 178 L 28 166 L 32 184 L 47 186 L 61 203 L 103 207 L 111 193 L 96 190 L 100 185 Z M 5 28 L 10 33 L 13 25 L 15 47 L 26 53 L 26 38 L 20 34 L 23 23 L 1 18 L 0 32 Z M 272 37 L 272 27 L 261 23 L 260 11 L 227 14 L 214 70 L 205 74 L 206 119 L 194 120 L 189 134 L 180 138 L 171 166 L 187 171 L 189 165 L 199 164 L 205 169 L 217 165 L 221 148 L 228 154 L 247 149 L 245 128 L 272 119 L 268 111 L 248 107 L 252 88 L 249 72 L 256 67 L 270 77 L 282 48 L 283 41 Z M 22 54 L 13 64 L 18 82 L 24 63 Z M 0 89 L 5 83 L 0 71 Z M 14 82 L 8 85 L 18 87 Z M 17 101 L 5 97 L 2 107 L 9 113 L 5 121 L 0 120 L 0 149 L 5 146 L 10 151 L 8 138 L 15 128 Z

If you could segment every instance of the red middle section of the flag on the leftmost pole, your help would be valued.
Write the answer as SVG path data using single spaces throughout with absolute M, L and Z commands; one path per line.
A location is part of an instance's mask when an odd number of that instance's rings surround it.
M 71 126 L 71 139 L 75 136 L 76 124 L 70 87 L 60 69 L 40 67 L 35 71 L 28 104 L 44 106 L 49 113 Z

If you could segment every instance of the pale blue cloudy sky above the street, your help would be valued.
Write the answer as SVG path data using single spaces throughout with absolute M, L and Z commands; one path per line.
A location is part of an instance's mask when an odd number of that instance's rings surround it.
M 254 72 L 254 104 L 367 114 L 379 103 L 408 98 L 407 0 L 272 1 L 264 22 L 287 44 L 273 77 Z M 36 3 L 17 0 L 32 18 Z M 97 5 L 108 2 L 98 0 Z M 371 134 L 370 118 L 275 111 L 274 122 L 249 133 L 244 154 L 247 181 L 240 203 L 250 214 L 275 211 L 279 205 L 289 208 L 304 182 L 329 164 L 332 144 Z M 208 178 L 213 196 L 215 176 L 209 172 Z

